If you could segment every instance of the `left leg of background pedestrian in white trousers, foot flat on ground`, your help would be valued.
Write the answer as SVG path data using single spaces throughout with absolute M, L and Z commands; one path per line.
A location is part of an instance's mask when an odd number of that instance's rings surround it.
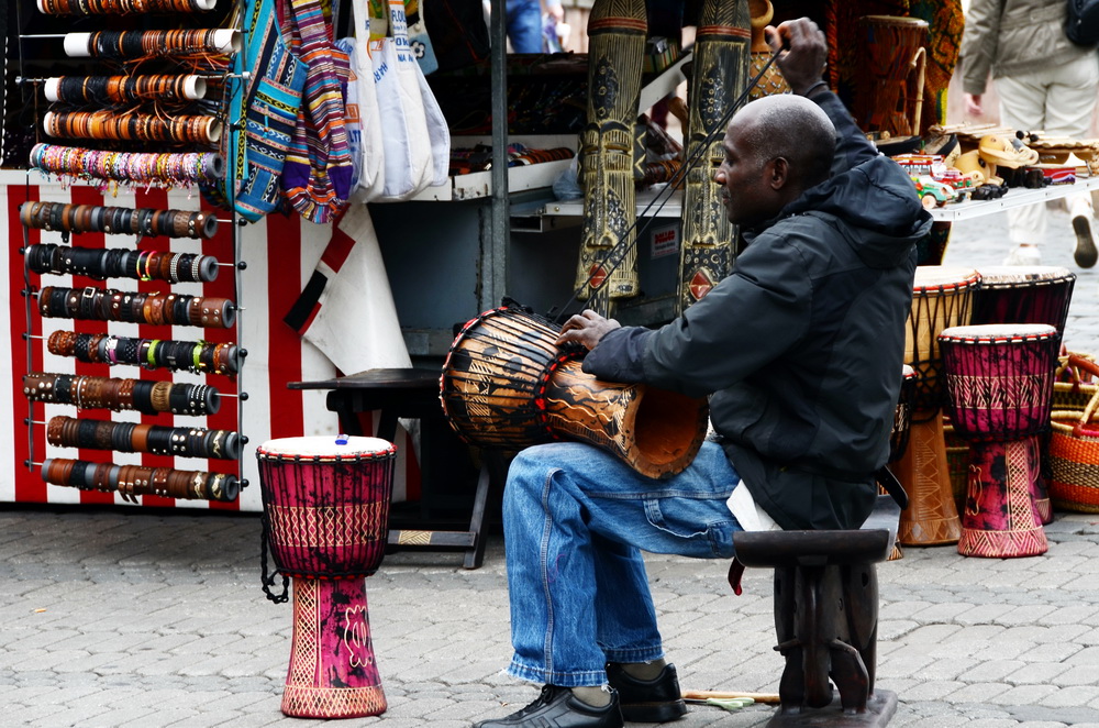
M 1045 128 L 1048 80 L 1044 73 L 997 78 L 1000 98 L 1000 123 L 1012 131 Z M 1039 244 L 1045 240 L 1045 206 L 1025 205 L 1008 210 L 1008 238 L 1011 250 L 1006 265 L 1040 265 Z

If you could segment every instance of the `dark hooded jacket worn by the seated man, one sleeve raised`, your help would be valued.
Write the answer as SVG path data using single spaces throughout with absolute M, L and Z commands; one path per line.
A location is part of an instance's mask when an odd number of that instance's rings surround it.
M 832 177 L 745 231 L 732 274 L 682 317 L 610 332 L 584 369 L 710 395 L 733 467 L 779 526 L 857 528 L 888 455 L 931 219 L 839 99 L 814 100 L 837 129 Z

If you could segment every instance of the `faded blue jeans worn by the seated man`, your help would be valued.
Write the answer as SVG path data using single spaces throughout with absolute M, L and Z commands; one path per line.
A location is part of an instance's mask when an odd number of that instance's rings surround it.
M 741 527 L 725 500 L 739 481 L 712 442 L 663 481 L 586 444 L 519 453 L 503 496 L 515 649 L 508 673 L 601 685 L 607 662 L 664 657 L 641 550 L 731 559 Z

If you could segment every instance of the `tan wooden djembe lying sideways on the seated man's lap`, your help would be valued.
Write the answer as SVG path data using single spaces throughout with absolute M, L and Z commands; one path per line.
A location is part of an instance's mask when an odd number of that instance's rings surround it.
M 707 400 L 585 374 L 585 350 L 557 346 L 559 332 L 517 307 L 465 324 L 440 377 L 443 413 L 458 435 L 510 451 L 577 440 L 648 477 L 687 467 L 706 437 Z

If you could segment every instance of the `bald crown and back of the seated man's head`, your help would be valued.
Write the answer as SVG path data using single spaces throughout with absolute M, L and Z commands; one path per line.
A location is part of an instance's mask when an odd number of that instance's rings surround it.
M 800 194 L 828 179 L 835 153 L 835 126 L 807 98 L 765 96 L 737 111 L 729 131 L 741 136 L 759 164 L 775 157 L 787 159 L 791 191 Z

